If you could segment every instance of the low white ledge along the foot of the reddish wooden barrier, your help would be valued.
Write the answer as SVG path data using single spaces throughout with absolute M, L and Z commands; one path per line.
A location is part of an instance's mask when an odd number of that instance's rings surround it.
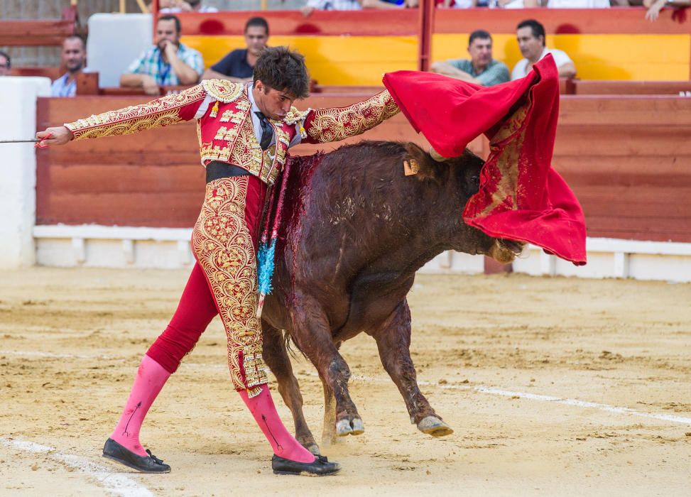
M 36 226 L 36 258 L 45 266 L 110 268 L 183 268 L 194 262 L 191 229 L 121 226 Z M 513 271 L 577 278 L 635 278 L 691 282 L 691 244 L 618 239 L 588 239 L 588 263 L 574 266 L 529 246 Z M 440 253 L 422 273 L 477 274 L 484 257 Z

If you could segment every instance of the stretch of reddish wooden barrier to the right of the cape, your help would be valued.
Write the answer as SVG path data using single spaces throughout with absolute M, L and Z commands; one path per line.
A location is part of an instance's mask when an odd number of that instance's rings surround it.
M 563 97 L 553 164 L 588 236 L 691 241 L 691 99 Z

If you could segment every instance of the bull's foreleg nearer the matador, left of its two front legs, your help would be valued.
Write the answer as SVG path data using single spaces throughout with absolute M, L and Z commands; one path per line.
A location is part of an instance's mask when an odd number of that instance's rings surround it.
M 336 435 L 360 435 L 364 424 L 348 392 L 350 368 L 334 345 L 329 322 L 321 306 L 308 295 L 296 293 L 290 318 L 295 330 L 295 342 L 317 368 L 322 383 L 336 399 Z

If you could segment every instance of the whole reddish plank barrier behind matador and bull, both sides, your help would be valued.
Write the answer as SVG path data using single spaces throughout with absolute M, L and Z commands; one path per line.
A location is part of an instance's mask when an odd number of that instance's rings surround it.
M 339 107 L 369 94 L 315 94 L 300 107 Z M 144 100 L 39 99 L 38 128 Z M 582 203 L 588 235 L 691 242 L 690 134 L 691 99 L 562 97 L 553 164 Z M 364 138 L 428 146 L 401 115 L 342 143 Z M 486 140 L 472 146 L 486 156 Z M 190 227 L 204 185 L 197 150 L 190 123 L 38 151 L 37 224 Z

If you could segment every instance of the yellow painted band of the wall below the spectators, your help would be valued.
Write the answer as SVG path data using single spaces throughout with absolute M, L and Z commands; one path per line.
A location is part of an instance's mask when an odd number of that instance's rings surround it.
M 521 59 L 513 34 L 496 34 L 494 58 L 509 69 Z M 305 55 L 319 84 L 381 84 L 384 72 L 415 69 L 415 36 L 272 36 Z M 204 55 L 209 67 L 244 47 L 241 36 L 185 36 L 183 43 Z M 467 57 L 468 34 L 436 34 L 432 60 Z M 548 35 L 547 45 L 570 55 L 582 80 L 688 80 L 691 35 Z

